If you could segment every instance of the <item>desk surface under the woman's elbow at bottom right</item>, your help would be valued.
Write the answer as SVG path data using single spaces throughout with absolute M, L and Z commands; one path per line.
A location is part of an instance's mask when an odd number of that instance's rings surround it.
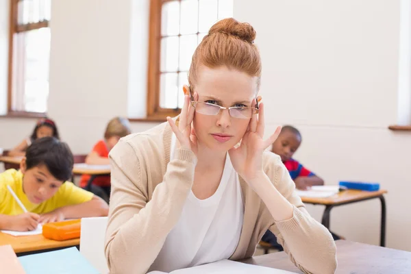
M 359 242 L 337 240 L 337 274 L 409 274 L 411 273 L 411 252 Z M 285 252 L 271 253 L 241 260 L 246 264 L 282 269 L 302 273 L 292 264 Z

